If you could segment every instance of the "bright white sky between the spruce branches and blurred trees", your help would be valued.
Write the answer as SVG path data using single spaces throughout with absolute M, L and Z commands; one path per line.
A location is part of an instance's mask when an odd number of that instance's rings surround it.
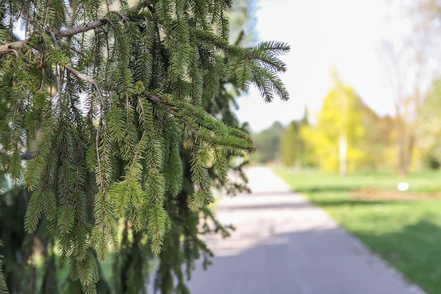
M 246 97 L 238 99 L 237 117 L 259 132 L 274 121 L 287 125 L 301 118 L 305 105 L 318 111 L 331 87 L 332 68 L 378 114 L 393 114 L 378 48 L 380 39 L 404 30 L 406 20 L 392 21 L 391 9 L 387 0 L 260 0 L 259 39 L 279 40 L 291 47 L 282 58 L 288 68 L 282 80 L 290 101 L 266 104 L 251 87 Z

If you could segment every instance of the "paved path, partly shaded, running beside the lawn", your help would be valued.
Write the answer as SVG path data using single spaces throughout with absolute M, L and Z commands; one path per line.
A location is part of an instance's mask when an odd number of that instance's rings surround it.
M 247 174 L 254 192 L 223 198 L 218 212 L 237 230 L 208 239 L 216 257 L 192 275 L 192 294 L 423 293 L 270 169 Z

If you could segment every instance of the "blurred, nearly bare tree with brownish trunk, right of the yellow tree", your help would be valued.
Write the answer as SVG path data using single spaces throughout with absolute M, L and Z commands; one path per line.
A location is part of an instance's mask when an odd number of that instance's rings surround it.
M 405 174 L 415 165 L 419 107 L 434 77 L 440 75 L 440 8 L 437 0 L 390 1 L 403 30 L 380 43 L 385 81 L 395 106 L 397 169 Z M 391 18 L 393 22 L 393 18 Z

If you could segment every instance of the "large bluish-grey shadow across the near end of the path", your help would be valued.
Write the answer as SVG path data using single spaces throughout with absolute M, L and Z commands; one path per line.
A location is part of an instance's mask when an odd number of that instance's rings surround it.
M 222 246 L 192 294 L 410 294 L 396 272 L 340 228 L 270 235 L 242 250 Z

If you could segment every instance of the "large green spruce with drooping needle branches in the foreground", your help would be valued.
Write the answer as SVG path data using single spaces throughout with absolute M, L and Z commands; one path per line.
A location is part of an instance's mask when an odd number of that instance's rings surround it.
M 230 6 L 0 1 L 0 176 L 16 191 L 25 186 L 5 200 L 25 204 L 25 231 L 49 237 L 42 293 L 57 293 L 54 248 L 85 293 L 110 290 L 97 263 L 108 250 L 119 252 L 115 293 L 144 293 L 145 247 L 160 253 L 156 288 L 187 293 L 182 264 L 190 273 L 210 253 L 199 233 L 227 233 L 216 220 L 199 222 L 212 218 L 213 183 L 235 188 L 228 155 L 254 147 L 226 124 L 225 83 L 287 99 L 278 56 L 289 49 L 229 44 Z M 23 39 L 14 35 L 20 24 Z

